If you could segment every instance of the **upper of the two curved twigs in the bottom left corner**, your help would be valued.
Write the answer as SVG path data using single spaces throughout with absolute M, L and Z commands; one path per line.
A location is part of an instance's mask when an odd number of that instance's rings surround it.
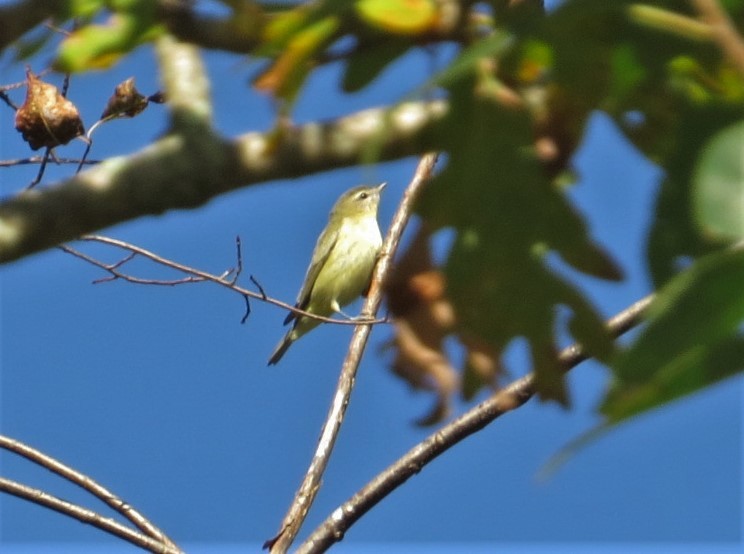
M 110 508 L 127 518 L 143 533 L 156 540 L 159 544 L 168 545 L 169 547 L 178 550 L 176 544 L 149 519 L 87 475 L 76 471 L 70 466 L 63 464 L 59 460 L 52 458 L 27 444 L 5 435 L 0 435 L 0 448 L 18 454 L 19 456 L 23 456 L 27 460 L 48 469 L 52 473 L 56 473 L 60 477 L 63 477 L 71 483 L 88 491 L 93 496 L 107 504 Z M 95 523 L 93 524 L 95 525 Z

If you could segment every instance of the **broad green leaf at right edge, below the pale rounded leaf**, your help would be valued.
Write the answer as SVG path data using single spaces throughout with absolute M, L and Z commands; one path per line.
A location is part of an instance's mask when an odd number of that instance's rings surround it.
M 742 284 L 741 250 L 701 258 L 672 279 L 642 334 L 613 363 L 602 413 L 618 422 L 744 369 Z

